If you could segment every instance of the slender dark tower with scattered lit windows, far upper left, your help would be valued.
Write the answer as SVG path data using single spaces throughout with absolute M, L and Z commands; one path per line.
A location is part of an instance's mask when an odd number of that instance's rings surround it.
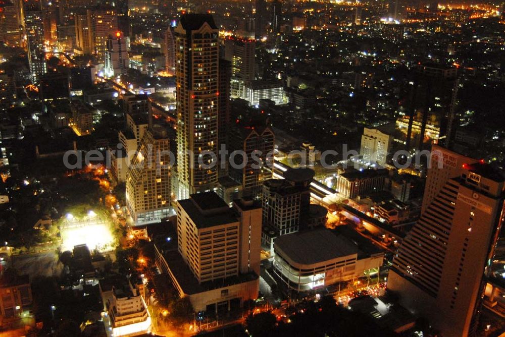
M 44 59 L 44 25 L 40 2 L 28 2 L 25 5 L 25 31 L 28 45 L 28 64 L 32 81 L 47 72 Z

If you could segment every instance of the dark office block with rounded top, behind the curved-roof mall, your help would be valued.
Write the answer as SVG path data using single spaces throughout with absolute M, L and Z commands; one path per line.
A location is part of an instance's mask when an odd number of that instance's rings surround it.
M 304 224 L 310 209 L 310 168 L 289 168 L 284 179 L 269 179 L 263 184 L 262 245 L 273 253 L 278 236 L 295 233 Z

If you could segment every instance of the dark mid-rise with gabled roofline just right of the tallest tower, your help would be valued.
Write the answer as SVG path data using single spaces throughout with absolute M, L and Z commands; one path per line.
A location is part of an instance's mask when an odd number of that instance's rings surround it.
M 229 168 L 230 177 L 241 185 L 243 196 L 257 199 L 261 197 L 263 182 L 272 178 L 272 171 L 266 170 L 267 156 L 273 160 L 275 137 L 272 129 L 265 123 L 233 125 L 230 130 L 230 153 L 243 151 L 247 158 L 245 165 L 238 155 L 233 161 L 238 165 Z M 233 167 L 235 166 L 235 167 Z

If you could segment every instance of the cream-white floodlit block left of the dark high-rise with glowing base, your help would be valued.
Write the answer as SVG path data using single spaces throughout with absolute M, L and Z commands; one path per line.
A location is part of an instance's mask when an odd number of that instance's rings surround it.
M 363 160 L 384 165 L 391 150 L 393 137 L 377 129 L 365 128 L 361 136 L 360 155 Z

